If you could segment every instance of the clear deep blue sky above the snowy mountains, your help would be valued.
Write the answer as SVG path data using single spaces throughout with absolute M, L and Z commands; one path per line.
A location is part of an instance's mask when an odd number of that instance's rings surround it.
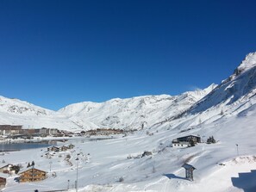
M 256 51 L 255 8 L 255 0 L 1 0 L 0 95 L 57 110 L 220 84 Z

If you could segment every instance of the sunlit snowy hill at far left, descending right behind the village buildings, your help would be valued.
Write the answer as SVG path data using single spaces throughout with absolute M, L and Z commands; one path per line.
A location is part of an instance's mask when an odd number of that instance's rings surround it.
M 75 123 L 58 112 L 18 99 L 0 96 L 0 124 L 22 125 L 24 128 L 77 129 Z

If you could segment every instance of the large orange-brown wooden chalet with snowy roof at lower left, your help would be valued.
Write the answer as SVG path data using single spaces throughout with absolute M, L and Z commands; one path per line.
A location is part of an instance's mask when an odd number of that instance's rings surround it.
M 20 176 L 20 183 L 24 182 L 38 182 L 47 178 L 47 172 L 44 170 L 38 170 L 34 167 L 30 167 L 26 170 L 23 170 L 19 173 Z

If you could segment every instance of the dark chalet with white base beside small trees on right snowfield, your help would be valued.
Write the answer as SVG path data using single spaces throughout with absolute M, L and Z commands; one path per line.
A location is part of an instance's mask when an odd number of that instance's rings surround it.
M 195 146 L 197 143 L 201 143 L 201 138 L 196 135 L 188 135 L 181 138 L 172 140 L 172 147 L 184 148 L 188 146 Z

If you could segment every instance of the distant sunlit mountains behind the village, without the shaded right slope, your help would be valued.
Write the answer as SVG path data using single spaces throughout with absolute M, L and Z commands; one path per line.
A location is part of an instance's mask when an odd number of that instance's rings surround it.
M 55 112 L 18 99 L 0 97 L 0 124 L 27 128 L 55 127 L 66 130 L 95 128 L 140 129 L 151 127 L 159 118 L 176 115 L 206 96 L 205 90 L 185 92 L 179 96 L 138 96 L 107 102 L 80 102 Z

